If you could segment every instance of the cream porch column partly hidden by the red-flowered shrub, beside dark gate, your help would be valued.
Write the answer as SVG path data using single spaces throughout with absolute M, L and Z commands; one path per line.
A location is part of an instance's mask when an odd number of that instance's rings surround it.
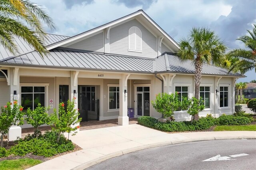
M 70 71 L 70 85 L 69 85 L 69 100 L 72 101 L 74 100 L 75 102 L 75 108 L 74 109 L 78 109 L 78 73 L 79 71 Z M 72 127 L 77 127 L 80 126 L 80 123 L 76 124 L 76 125 L 71 125 Z M 80 128 L 77 129 L 77 131 L 79 131 Z

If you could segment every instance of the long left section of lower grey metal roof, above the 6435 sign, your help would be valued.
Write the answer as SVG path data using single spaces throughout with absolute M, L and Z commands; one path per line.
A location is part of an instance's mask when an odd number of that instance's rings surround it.
M 47 57 L 40 57 L 37 51 L 32 51 L 11 59 L 0 61 L 1 63 L 72 67 L 82 69 L 104 69 L 116 71 L 152 72 L 154 59 L 124 57 L 118 55 L 105 55 L 70 51 L 65 49 L 50 50 Z

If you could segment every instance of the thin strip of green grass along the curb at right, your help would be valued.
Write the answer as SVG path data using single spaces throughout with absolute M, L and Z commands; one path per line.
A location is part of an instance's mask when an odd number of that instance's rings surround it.
M 217 126 L 214 131 L 256 131 L 256 125 Z

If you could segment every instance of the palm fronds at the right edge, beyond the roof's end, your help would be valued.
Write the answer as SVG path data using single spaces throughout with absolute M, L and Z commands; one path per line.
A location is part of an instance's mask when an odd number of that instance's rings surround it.
M 247 49 L 234 49 L 229 55 L 238 57 L 240 62 L 230 67 L 230 71 L 240 71 L 242 74 L 255 69 L 256 72 L 256 24 L 252 31 L 247 30 L 250 36 L 242 36 L 237 40 L 244 43 Z

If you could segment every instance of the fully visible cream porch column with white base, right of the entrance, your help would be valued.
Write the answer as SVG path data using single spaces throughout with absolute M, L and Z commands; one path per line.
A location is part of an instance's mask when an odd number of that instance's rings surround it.
M 118 125 L 129 125 L 129 117 L 127 116 L 128 93 L 127 80 L 130 74 L 122 74 L 122 79 L 119 79 L 119 117 Z

